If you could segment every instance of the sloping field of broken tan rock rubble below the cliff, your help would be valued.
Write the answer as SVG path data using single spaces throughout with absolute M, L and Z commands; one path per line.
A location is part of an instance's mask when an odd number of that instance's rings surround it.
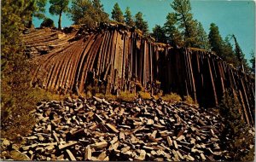
M 220 118 L 183 102 L 42 101 L 26 144 L 2 140 L 2 159 L 218 160 Z M 4 155 L 5 154 L 5 155 Z

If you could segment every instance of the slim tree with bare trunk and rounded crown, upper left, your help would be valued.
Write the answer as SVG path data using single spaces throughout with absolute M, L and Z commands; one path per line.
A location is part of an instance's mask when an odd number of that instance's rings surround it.
M 61 16 L 67 13 L 69 0 L 49 0 L 49 3 L 49 13 L 59 15 L 58 29 L 61 29 Z

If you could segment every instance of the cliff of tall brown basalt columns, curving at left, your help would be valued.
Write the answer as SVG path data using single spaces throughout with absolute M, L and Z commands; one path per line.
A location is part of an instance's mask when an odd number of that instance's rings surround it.
M 208 51 L 172 48 L 128 26 L 106 24 L 28 30 L 24 40 L 27 54 L 38 62 L 33 86 L 58 93 L 84 93 L 96 86 L 116 94 L 136 92 L 141 84 L 151 93 L 190 95 L 201 107 L 217 106 L 231 90 L 242 118 L 254 124 L 254 78 Z

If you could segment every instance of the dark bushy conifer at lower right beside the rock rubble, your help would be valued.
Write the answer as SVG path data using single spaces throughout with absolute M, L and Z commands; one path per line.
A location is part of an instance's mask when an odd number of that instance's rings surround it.
M 252 153 L 248 155 L 250 145 L 254 144 L 253 131 L 249 133 L 251 128 L 241 119 L 241 105 L 237 97 L 226 92 L 218 108 L 224 125 L 220 147 L 228 150 L 225 154 L 230 157 L 228 160 L 253 160 Z

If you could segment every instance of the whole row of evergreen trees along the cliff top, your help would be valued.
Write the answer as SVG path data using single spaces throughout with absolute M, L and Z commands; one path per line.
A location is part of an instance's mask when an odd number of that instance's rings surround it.
M 26 26 L 32 26 L 32 17 L 44 19 L 41 26 L 54 26 L 53 20 L 44 16 L 47 0 L 25 0 L 28 3 L 31 14 Z M 129 7 L 125 13 L 119 8 L 119 3 L 113 5 L 110 16 L 104 11 L 101 0 L 49 0 L 49 13 L 59 16 L 58 29 L 61 29 L 61 16 L 67 13 L 74 24 L 97 26 L 101 22 L 118 22 L 127 26 L 134 26 L 141 30 L 144 35 L 155 38 L 156 42 L 169 43 L 173 47 L 192 47 L 210 50 L 220 56 L 224 61 L 232 64 L 237 69 L 246 73 L 254 73 L 254 53 L 251 52 L 251 66 L 245 59 L 234 34 L 222 38 L 218 32 L 218 26 L 212 23 L 210 32 L 204 30 L 201 22 L 195 20 L 189 0 L 174 0 L 170 5 L 173 12 L 166 15 L 166 23 L 163 26 L 155 25 L 153 32 L 148 30 L 148 21 L 143 19 L 143 13 L 137 12 L 134 16 Z M 69 8 L 68 4 L 71 3 Z

